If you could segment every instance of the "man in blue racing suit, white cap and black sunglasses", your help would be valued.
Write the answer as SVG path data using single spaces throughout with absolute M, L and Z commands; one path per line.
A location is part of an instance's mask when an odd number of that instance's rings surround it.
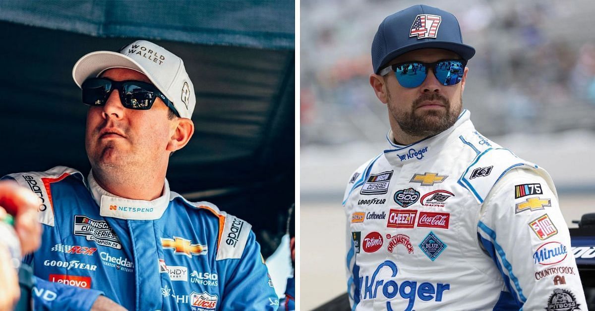
M 183 61 L 139 40 L 74 65 L 92 171 L 11 174 L 41 199 L 35 309 L 276 310 L 250 225 L 170 191 L 172 152 L 192 137 Z M 197 172 L 197 174 L 200 174 Z

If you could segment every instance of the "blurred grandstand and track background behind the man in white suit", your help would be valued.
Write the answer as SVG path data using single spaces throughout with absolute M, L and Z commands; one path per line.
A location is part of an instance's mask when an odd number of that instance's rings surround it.
M 368 83 L 378 24 L 417 1 L 301 1 L 302 307 L 345 292 L 345 215 L 352 172 L 383 150 L 386 106 Z M 566 222 L 593 212 L 595 32 L 591 0 L 423 1 L 452 12 L 477 53 L 463 96 L 485 136 L 546 168 Z M 321 228 L 324 230 L 321 231 Z M 324 233 L 324 234 L 322 234 Z M 333 241 L 321 243 L 320 239 Z M 314 245 L 314 248 L 312 246 Z M 324 279 L 310 288 L 312 282 Z

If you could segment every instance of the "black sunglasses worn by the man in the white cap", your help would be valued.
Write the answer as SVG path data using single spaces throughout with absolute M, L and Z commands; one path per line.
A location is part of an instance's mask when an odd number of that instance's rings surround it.
M 112 90 L 118 90 L 122 105 L 129 109 L 151 109 L 156 98 L 161 98 L 177 117 L 180 114 L 174 103 L 167 99 L 153 84 L 127 80 L 113 81 L 108 78 L 88 78 L 81 86 L 83 90 L 83 103 L 90 106 L 103 106 L 107 102 Z

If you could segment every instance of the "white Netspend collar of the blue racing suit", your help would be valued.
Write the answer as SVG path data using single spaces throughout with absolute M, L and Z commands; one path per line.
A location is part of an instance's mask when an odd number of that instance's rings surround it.
M 165 180 L 161 196 L 155 200 L 133 200 L 116 196 L 103 189 L 95 178 L 93 171 L 87 177 L 89 191 L 99 205 L 99 213 L 104 217 L 113 217 L 131 220 L 154 220 L 161 218 L 170 203 L 170 185 Z

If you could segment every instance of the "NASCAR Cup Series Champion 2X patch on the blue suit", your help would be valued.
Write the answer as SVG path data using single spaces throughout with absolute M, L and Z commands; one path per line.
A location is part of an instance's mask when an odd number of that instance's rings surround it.
M 107 221 L 95 220 L 83 215 L 74 215 L 74 235 L 82 235 L 87 241 L 95 241 L 101 246 L 121 249 L 120 238 L 109 227 Z

